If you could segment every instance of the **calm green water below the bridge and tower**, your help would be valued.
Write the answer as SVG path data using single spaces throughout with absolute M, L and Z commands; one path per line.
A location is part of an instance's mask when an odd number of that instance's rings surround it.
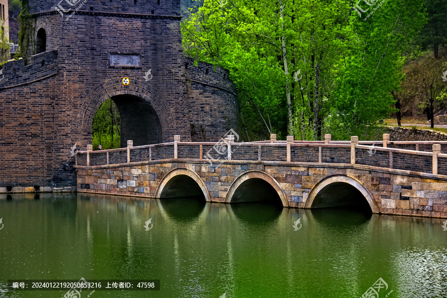
M 160 280 L 91 298 L 359 298 L 379 278 L 379 298 L 447 297 L 440 219 L 84 194 L 0 195 L 0 218 L 0 297 L 61 298 L 6 281 L 81 277 Z

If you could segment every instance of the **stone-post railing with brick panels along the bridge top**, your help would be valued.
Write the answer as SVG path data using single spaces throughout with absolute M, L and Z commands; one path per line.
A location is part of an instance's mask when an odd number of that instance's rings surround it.
M 270 141 L 237 143 L 234 136 L 227 136 L 218 143 L 174 142 L 136 146 L 128 141 L 127 148 L 78 151 L 75 164 L 79 166 L 117 166 L 143 161 L 169 159 L 203 160 L 221 163 L 226 160 L 273 161 L 299 163 L 350 163 L 374 167 L 400 169 L 413 172 L 447 175 L 447 142 L 390 142 L 389 135 L 383 135 L 382 142 L 361 141 L 351 137 L 351 142 L 331 141 Z M 434 144 L 437 143 L 437 144 Z M 410 150 L 409 150 L 410 149 Z M 441 149 L 443 149 L 441 151 Z

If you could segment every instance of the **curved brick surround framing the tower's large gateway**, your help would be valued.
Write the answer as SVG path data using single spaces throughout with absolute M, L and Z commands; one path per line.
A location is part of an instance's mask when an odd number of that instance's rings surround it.
M 181 131 L 175 131 L 169 105 L 146 82 L 131 78 L 131 83 L 124 85 L 120 78 L 116 78 L 96 86 L 87 94 L 83 104 L 79 107 L 76 125 L 85 140 L 91 140 L 93 116 L 101 104 L 107 98 L 118 95 L 138 97 L 153 109 L 154 114 L 160 119 L 161 142 L 169 141 L 167 136 L 181 133 Z

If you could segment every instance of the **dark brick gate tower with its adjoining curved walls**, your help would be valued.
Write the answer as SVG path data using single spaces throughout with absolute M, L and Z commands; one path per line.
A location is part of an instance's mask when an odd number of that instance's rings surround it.
M 107 98 L 122 147 L 236 129 L 228 71 L 183 56 L 180 0 L 24 2 L 23 59 L 4 64 L 0 81 L 0 190 L 74 189 L 70 149 L 91 144 Z

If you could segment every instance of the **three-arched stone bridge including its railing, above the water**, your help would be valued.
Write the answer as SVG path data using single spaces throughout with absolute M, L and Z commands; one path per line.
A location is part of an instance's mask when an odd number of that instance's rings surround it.
M 77 191 L 447 218 L 447 142 L 174 142 L 76 154 Z M 441 144 L 440 144 L 441 143 Z

